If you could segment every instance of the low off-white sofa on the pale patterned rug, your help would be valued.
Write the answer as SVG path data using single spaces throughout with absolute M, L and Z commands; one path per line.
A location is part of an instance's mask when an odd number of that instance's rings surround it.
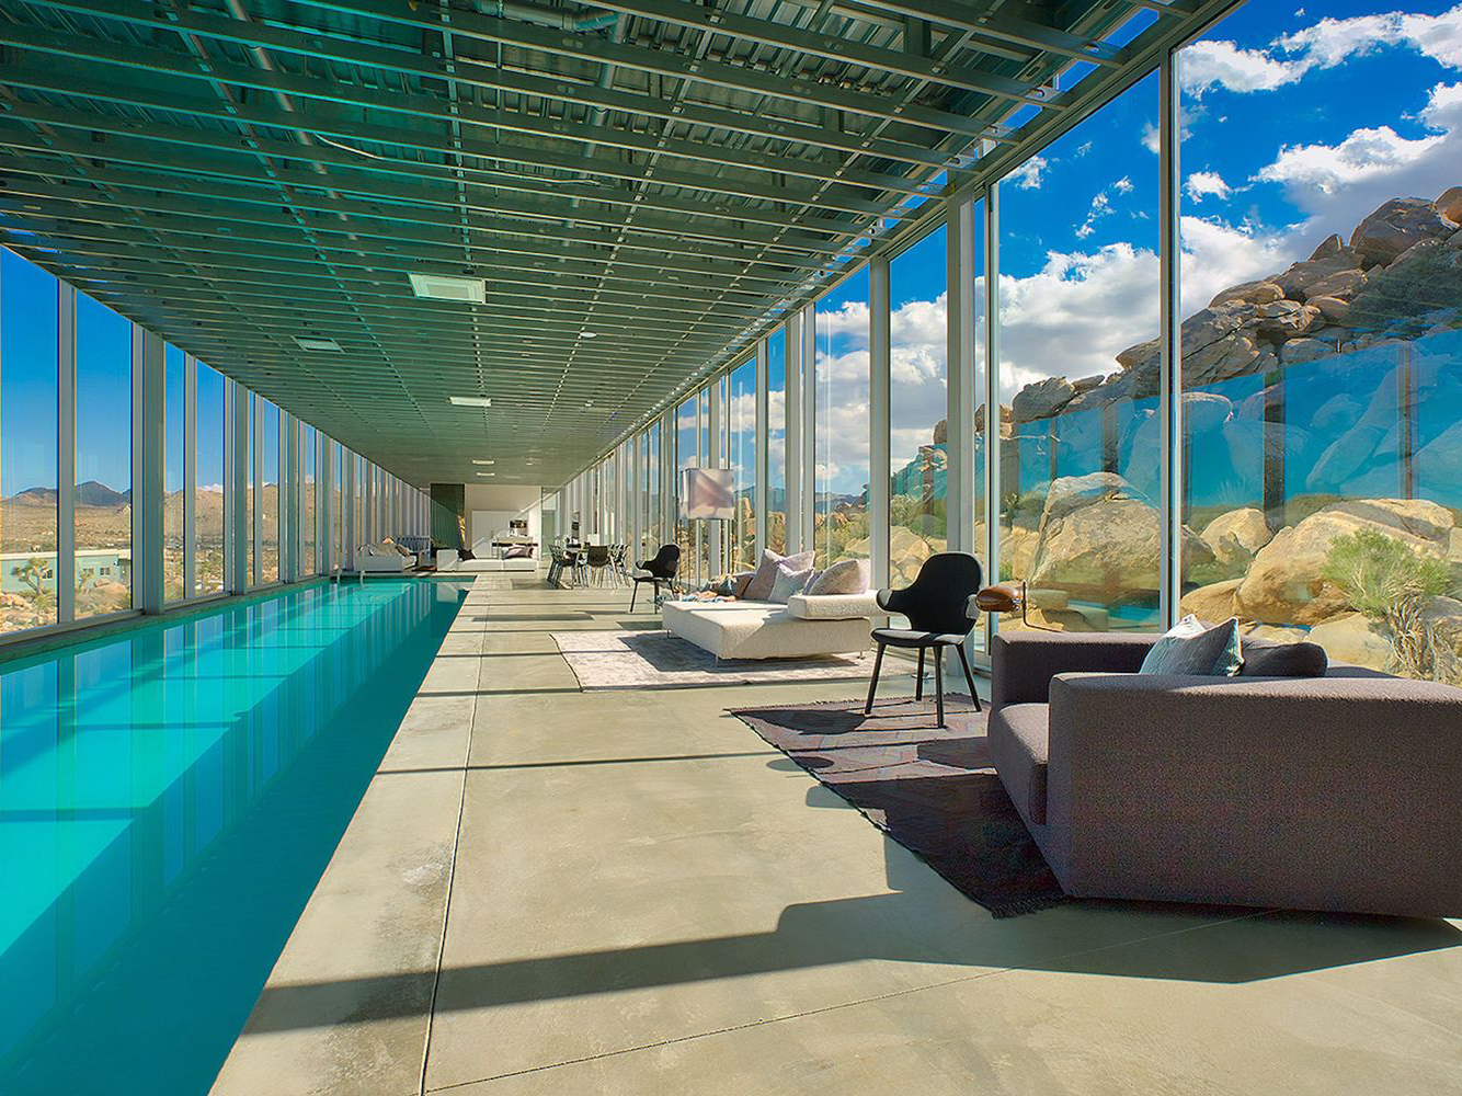
M 765 601 L 667 601 L 665 630 L 722 659 L 849 655 L 871 646 L 873 590 Z

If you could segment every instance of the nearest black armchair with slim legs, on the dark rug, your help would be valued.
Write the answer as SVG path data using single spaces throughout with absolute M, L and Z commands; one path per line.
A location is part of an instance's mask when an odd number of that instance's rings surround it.
M 969 696 L 975 712 L 981 712 L 980 694 L 975 693 L 975 675 L 969 671 L 965 655 L 965 637 L 975 627 L 969 617 L 969 599 L 980 590 L 980 560 L 968 552 L 939 552 L 920 567 L 912 586 L 902 590 L 879 590 L 879 608 L 898 612 L 909 620 L 906 628 L 874 628 L 873 639 L 879 653 L 873 661 L 873 681 L 868 682 L 868 703 L 863 715 L 873 713 L 873 694 L 879 688 L 879 669 L 883 666 L 885 647 L 918 650 L 918 678 L 914 699 L 924 699 L 924 653 L 934 650 L 934 703 L 939 725 L 944 726 L 944 647 L 959 652 L 959 665 L 965 668 Z

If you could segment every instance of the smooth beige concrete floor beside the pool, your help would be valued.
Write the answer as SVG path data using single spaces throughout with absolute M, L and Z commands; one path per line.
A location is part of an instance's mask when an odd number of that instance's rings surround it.
M 725 715 L 860 682 L 585 694 L 548 633 L 652 617 L 518 582 L 471 592 L 219 1096 L 1462 1092 L 1462 925 L 994 921 Z

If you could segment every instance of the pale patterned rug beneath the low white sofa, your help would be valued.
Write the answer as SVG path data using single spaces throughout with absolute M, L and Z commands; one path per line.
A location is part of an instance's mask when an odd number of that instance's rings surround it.
M 721 659 L 665 631 L 556 631 L 579 688 L 686 688 L 867 678 L 871 656 Z M 887 669 L 885 666 L 885 669 Z

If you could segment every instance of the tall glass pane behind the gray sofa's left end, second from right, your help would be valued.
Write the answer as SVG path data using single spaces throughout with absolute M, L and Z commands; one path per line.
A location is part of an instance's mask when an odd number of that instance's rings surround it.
M 1000 183 L 1001 577 L 1066 630 L 1158 624 L 1158 86 Z

